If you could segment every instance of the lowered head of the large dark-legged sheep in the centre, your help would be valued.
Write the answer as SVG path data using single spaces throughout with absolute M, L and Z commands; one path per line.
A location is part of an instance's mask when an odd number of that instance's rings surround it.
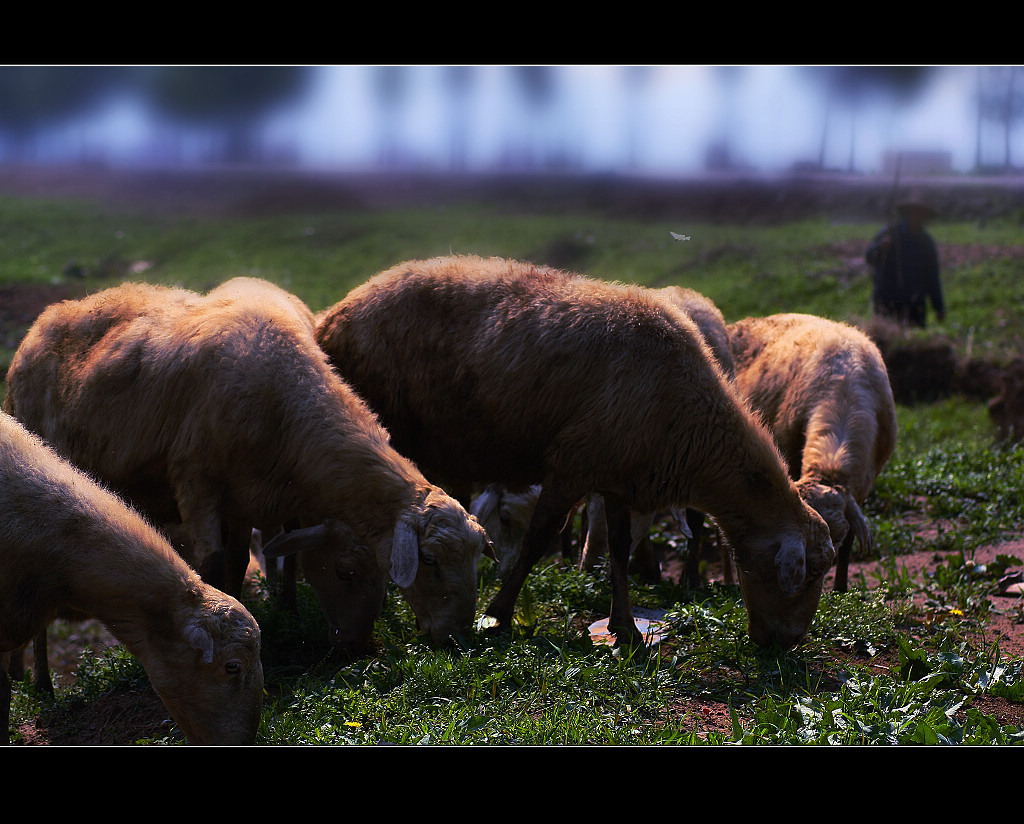
M 762 647 L 791 649 L 804 640 L 836 559 L 828 526 L 810 507 L 804 510 L 799 528 L 730 540 L 751 640 Z

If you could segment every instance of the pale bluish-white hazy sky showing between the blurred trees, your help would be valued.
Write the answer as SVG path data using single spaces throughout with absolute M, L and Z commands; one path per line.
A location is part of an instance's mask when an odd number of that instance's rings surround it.
M 408 161 L 440 165 L 456 124 L 464 122 L 458 133 L 477 166 L 509 155 L 560 153 L 588 168 L 624 169 L 633 145 L 641 171 L 677 173 L 702 168 L 710 142 L 727 130 L 736 160 L 773 171 L 816 161 L 825 123 L 822 90 L 807 68 L 740 67 L 729 95 L 715 67 L 651 67 L 644 83 L 630 87 L 623 67 L 562 66 L 551 105 L 531 110 L 507 67 L 475 67 L 464 121 L 444 93 L 440 68 L 410 69 L 404 103 L 386 121 L 372 90 L 373 67 L 321 67 L 314 87 L 273 118 L 265 138 L 282 157 L 297 155 L 315 165 L 373 162 L 385 139 Z M 974 67 L 936 67 L 931 86 L 912 105 L 878 100 L 858 112 L 856 169 L 879 171 L 883 151 L 892 147 L 948 150 L 954 170 L 969 170 L 976 151 L 975 83 Z M 847 167 L 851 122 L 847 107 L 833 106 L 827 166 Z M 75 135 L 132 160 L 159 142 L 161 128 L 131 101 L 121 101 Z M 985 146 L 984 159 L 1001 163 L 1001 136 L 991 133 Z M 1014 153 L 1021 165 L 1020 134 Z

